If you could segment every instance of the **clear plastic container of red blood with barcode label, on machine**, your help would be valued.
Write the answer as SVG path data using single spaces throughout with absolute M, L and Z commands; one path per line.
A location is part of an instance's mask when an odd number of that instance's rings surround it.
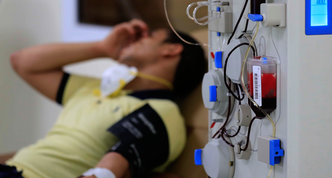
M 247 62 L 248 92 L 250 97 L 267 113 L 277 107 L 277 64 L 276 58 L 255 56 Z M 257 117 L 265 117 L 250 100 L 251 109 Z

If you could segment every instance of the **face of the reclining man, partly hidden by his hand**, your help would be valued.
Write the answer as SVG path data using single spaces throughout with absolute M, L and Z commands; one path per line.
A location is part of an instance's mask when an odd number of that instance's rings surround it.
M 118 62 L 129 66 L 142 67 L 157 63 L 162 56 L 161 48 L 168 32 L 165 29 L 153 31 L 148 37 L 124 47 Z

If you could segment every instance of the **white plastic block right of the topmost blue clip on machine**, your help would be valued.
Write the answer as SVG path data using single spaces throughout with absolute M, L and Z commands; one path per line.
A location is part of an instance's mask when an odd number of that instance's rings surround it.
M 286 28 L 286 4 L 268 3 L 260 5 L 260 14 L 263 16 L 264 27 Z

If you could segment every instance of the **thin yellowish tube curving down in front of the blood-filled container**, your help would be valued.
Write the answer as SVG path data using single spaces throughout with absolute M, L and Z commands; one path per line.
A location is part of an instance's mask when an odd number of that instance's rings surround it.
M 244 88 L 244 91 L 246 92 L 246 95 L 248 96 L 248 98 L 251 100 L 251 102 L 252 103 L 254 103 L 254 105 L 260 110 L 260 111 L 262 111 L 268 118 L 269 118 L 269 120 L 270 120 L 270 122 L 271 122 L 271 124 L 272 124 L 272 127 L 273 127 L 273 134 L 272 134 L 272 137 L 275 137 L 275 124 L 274 124 L 274 122 L 273 122 L 273 120 L 272 120 L 272 118 L 270 117 L 270 115 L 268 114 L 268 113 L 266 113 L 265 112 L 265 110 L 264 109 L 262 109 L 251 97 L 250 97 L 250 95 L 249 95 L 249 93 L 248 93 L 248 90 L 247 90 L 247 88 L 246 88 L 246 85 L 245 85 L 245 83 L 244 83 L 244 68 L 245 68 L 245 64 L 246 64 L 246 62 L 247 62 L 247 57 L 248 57 L 248 54 L 249 54 L 249 51 L 250 51 L 250 48 L 251 48 L 251 46 L 252 46 L 252 44 L 254 43 L 254 40 L 255 40 L 255 38 L 256 38 L 256 36 L 257 36 L 257 34 L 258 34 L 258 28 L 259 28 L 259 22 L 257 22 L 257 28 L 256 28 L 256 33 L 255 33 L 255 35 L 253 36 L 253 38 L 252 38 L 252 40 L 251 40 L 251 42 L 250 42 L 250 44 L 249 44 L 249 47 L 248 47 L 248 49 L 247 49 L 247 52 L 246 52 L 246 55 L 245 55 L 245 58 L 244 58 L 244 61 L 243 61 L 243 64 L 242 64 L 242 71 L 241 71 L 241 79 L 242 79 L 242 87 Z

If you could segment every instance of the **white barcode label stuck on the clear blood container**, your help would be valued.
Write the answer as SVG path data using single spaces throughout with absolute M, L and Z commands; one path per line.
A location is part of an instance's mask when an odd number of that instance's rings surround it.
M 262 106 L 262 71 L 260 66 L 252 66 L 254 101 Z

